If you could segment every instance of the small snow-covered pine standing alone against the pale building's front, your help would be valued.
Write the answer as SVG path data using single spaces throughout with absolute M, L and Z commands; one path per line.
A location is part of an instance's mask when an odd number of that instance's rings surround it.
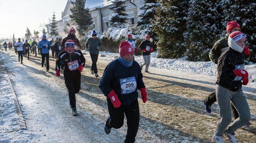
M 109 15 L 108 21 L 113 26 L 118 26 L 121 24 L 126 23 L 125 20 L 127 20 L 126 16 L 128 14 L 125 13 L 125 1 L 124 0 L 113 0 L 112 6 L 109 6 L 109 9 L 113 11 L 112 14 Z

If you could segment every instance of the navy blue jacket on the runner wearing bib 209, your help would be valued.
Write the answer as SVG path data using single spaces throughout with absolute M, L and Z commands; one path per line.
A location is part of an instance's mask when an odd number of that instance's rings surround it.
M 107 101 L 109 103 L 111 103 L 111 101 L 108 94 L 110 91 L 114 90 L 122 105 L 130 105 L 130 103 L 133 103 L 138 98 L 137 89 L 145 87 L 142 78 L 143 75 L 139 63 L 133 61 L 131 67 L 124 67 L 119 60 L 116 59 L 107 65 L 100 80 L 99 87 L 104 95 L 107 96 Z M 134 88 L 132 88 L 134 83 L 132 84 L 132 82 L 128 82 L 132 81 L 131 79 L 135 79 L 134 82 L 136 81 L 137 86 Z M 129 87 L 132 88 L 131 91 L 127 90 L 126 92 L 126 90 L 123 90 L 124 88 Z

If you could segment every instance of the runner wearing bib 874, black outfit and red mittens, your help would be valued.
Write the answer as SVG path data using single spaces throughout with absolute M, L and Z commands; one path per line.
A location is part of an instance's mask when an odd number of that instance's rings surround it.
M 56 76 L 60 76 L 61 61 L 64 63 L 64 80 L 68 89 L 70 108 L 72 115 L 77 116 L 76 111 L 76 93 L 79 92 L 81 86 L 81 72 L 85 65 L 85 58 L 80 50 L 74 49 L 75 43 L 67 40 L 65 43 L 65 51 L 58 55 L 56 60 Z

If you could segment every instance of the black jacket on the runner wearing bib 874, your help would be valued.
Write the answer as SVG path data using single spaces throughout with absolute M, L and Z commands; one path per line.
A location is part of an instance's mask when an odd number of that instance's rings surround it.
M 61 51 L 58 55 L 58 58 L 56 60 L 56 70 L 60 70 L 61 61 L 64 63 L 64 77 L 65 78 L 76 78 L 78 75 L 80 76 L 81 73 L 78 71 L 78 69 L 74 71 L 69 71 L 68 62 L 78 60 L 79 65 L 85 65 L 85 58 L 83 56 L 83 53 L 79 50 L 74 50 L 73 53 L 69 54 L 68 52 Z

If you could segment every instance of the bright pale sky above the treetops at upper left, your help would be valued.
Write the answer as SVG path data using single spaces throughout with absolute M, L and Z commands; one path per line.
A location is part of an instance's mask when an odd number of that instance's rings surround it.
M 22 38 L 27 27 L 30 32 L 42 33 L 43 27 L 52 19 L 61 19 L 68 0 L 0 0 L 0 38 Z M 40 34 L 39 34 L 40 35 Z

